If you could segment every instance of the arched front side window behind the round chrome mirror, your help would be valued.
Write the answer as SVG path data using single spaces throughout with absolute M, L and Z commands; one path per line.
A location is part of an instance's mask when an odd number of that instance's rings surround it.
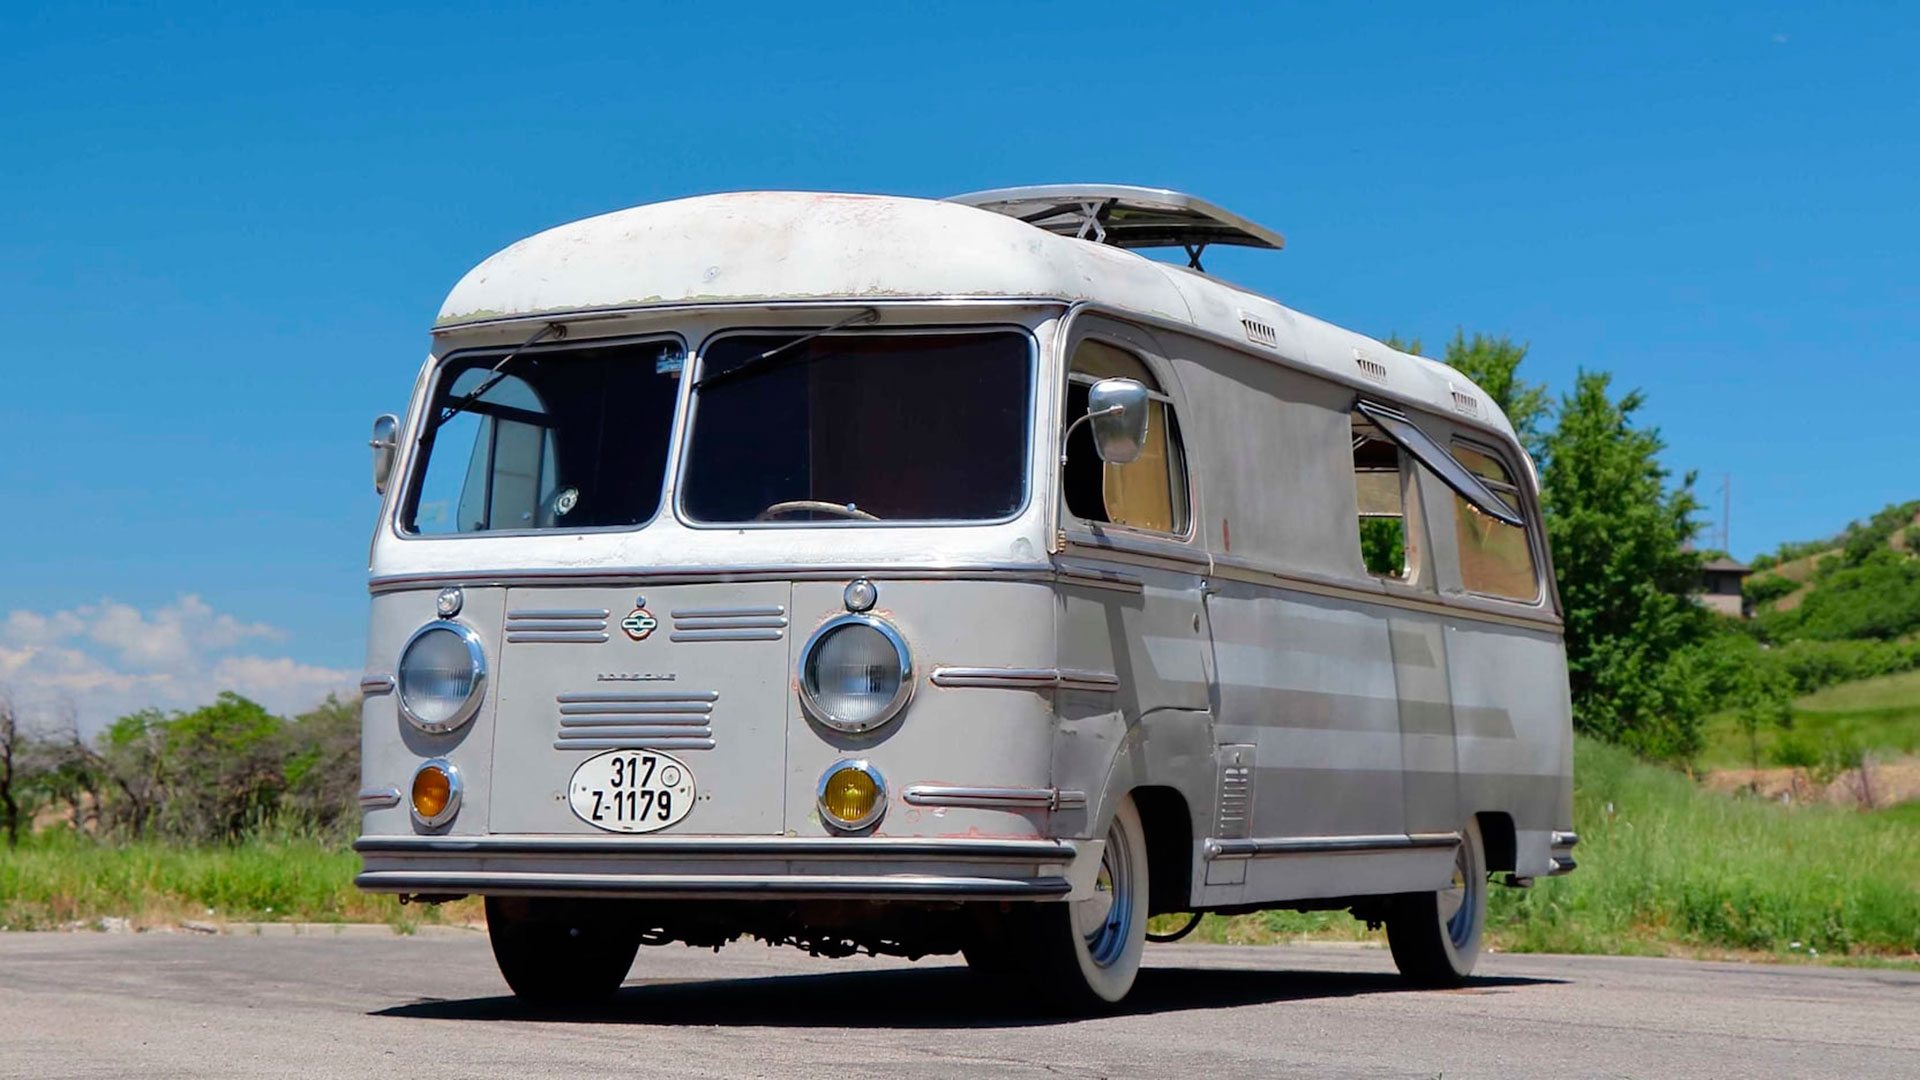
M 1068 440 L 1068 461 L 1062 469 L 1068 511 L 1081 521 L 1104 521 L 1148 528 L 1154 532 L 1187 532 L 1187 455 L 1181 450 L 1179 421 L 1173 402 L 1160 392 L 1146 363 L 1131 352 L 1106 342 L 1083 340 L 1073 350 L 1068 367 L 1066 423 L 1087 413 L 1087 388 L 1100 379 L 1137 379 L 1154 400 L 1146 417 L 1146 448 L 1129 465 L 1100 461 L 1087 425 Z

